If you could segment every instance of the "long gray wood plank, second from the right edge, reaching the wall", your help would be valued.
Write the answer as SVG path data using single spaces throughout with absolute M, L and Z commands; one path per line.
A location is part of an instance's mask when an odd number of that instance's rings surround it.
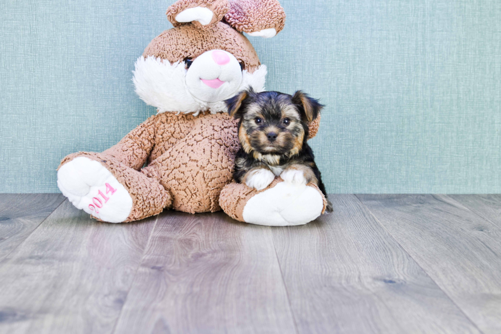
M 359 195 L 485 333 L 501 332 L 501 230 L 445 195 Z

